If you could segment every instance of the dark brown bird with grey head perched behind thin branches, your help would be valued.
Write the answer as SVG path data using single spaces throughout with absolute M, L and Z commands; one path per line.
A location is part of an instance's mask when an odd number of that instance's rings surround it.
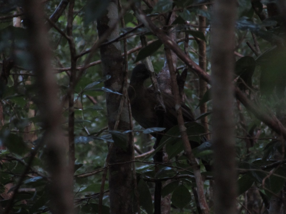
M 144 64 L 138 64 L 132 71 L 130 78 L 130 86 L 128 88 L 128 96 L 130 99 L 131 111 L 133 118 L 143 127 L 158 127 L 158 118 L 155 113 L 157 105 L 156 94 L 152 87 L 145 87 L 144 81 L 149 78 L 149 73 Z M 162 93 L 166 114 L 164 115 L 165 132 L 178 124 L 175 100 L 171 94 Z M 194 115 L 190 108 L 184 103 L 182 105 L 182 114 L 184 122 L 194 121 Z

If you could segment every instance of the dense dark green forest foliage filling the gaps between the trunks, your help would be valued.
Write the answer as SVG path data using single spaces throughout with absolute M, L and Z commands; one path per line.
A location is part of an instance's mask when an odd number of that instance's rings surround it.
M 21 1 L 0 1 L 1 16 L 12 15 L 21 9 Z M 9 1 L 10 2 L 10 1 Z M 78 54 L 77 66 L 80 69 L 87 58 L 86 51 L 89 51 L 97 39 L 96 20 L 104 11 L 109 1 L 76 1 L 74 7 L 73 38 Z M 236 26 L 236 64 L 234 81 L 241 90 L 244 90 L 251 100 L 265 106 L 266 110 L 271 109 L 271 113 L 277 113 L 277 117 L 285 123 L 285 29 L 279 17 L 268 17 L 260 20 L 254 13 L 250 1 L 240 0 L 238 7 L 238 21 Z M 43 3 L 46 16 L 51 16 L 58 5 L 58 1 L 51 0 Z M 200 4 L 206 3 L 207 10 L 202 10 Z M 262 9 L 262 4 L 257 3 Z M 122 1 L 122 5 L 127 7 L 127 1 Z M 188 40 L 189 57 L 198 62 L 198 40 L 204 40 L 209 46 L 210 41 L 210 21 L 211 4 L 209 1 L 161 1 L 154 6 L 154 9 L 147 9 L 142 5 L 145 13 L 150 17 L 158 18 L 176 6 L 177 18 L 172 23 L 175 26 L 178 38 L 184 38 L 185 33 L 195 39 Z M 197 30 L 197 15 L 207 18 L 206 35 Z M 13 187 L 18 184 L 21 174 L 28 167 L 28 173 L 21 184 L 19 192 L 15 197 L 12 209 L 13 213 L 45 213 L 49 212 L 49 174 L 45 165 L 45 148 L 40 148 L 32 163 L 29 163 L 31 152 L 37 147 L 44 134 L 43 124 L 39 116 L 37 103 L 41 102 L 37 97 L 37 82 L 33 72 L 33 59 L 27 51 L 27 29 L 25 27 L 25 17 L 22 18 L 21 27 L 13 27 L 12 19 L 0 20 L 0 52 L 2 73 L 0 77 L 0 97 L 4 115 L 3 126 L 0 129 L 0 193 L 2 199 L 0 208 L 9 203 L 9 194 L 13 193 Z M 126 33 L 136 27 L 137 19 L 131 10 L 124 14 L 126 27 L 120 27 L 121 33 Z M 160 19 L 156 19 L 158 27 L 164 27 Z M 55 25 L 66 32 L 67 13 L 64 12 Z M 247 41 L 253 41 L 252 34 L 257 38 L 257 44 L 262 54 L 255 56 L 247 46 Z M 52 65 L 55 68 L 55 76 L 59 86 L 59 97 L 63 105 L 63 117 L 65 121 L 62 128 L 65 132 L 68 129 L 68 106 L 65 103 L 65 95 L 70 88 L 69 67 L 70 52 L 68 41 L 55 29 L 49 30 L 50 47 L 53 58 Z M 141 27 L 127 34 L 127 48 L 134 49 L 140 45 L 140 35 L 146 35 L 148 41 L 153 41 L 140 51 L 130 54 L 128 60 L 129 70 L 134 67 L 134 63 L 142 60 L 146 56 L 151 56 L 154 70 L 159 71 L 164 64 L 164 49 L 162 42 L 158 40 L 146 28 Z M 178 45 L 183 49 L 183 42 Z M 122 49 L 123 50 L 123 49 Z M 86 52 L 86 53 L 85 53 Z M 123 51 L 122 51 L 123 52 Z M 207 48 L 207 58 L 210 59 L 210 48 Z M 241 55 L 243 57 L 241 57 Z M 5 78 L 4 70 L 9 67 L 9 60 L 13 61 L 13 68 Z M 78 213 L 98 212 L 98 193 L 102 179 L 102 167 L 108 153 L 108 144 L 116 142 L 123 150 L 126 149 L 127 132 L 120 130 L 108 132 L 107 130 L 107 110 L 105 103 L 105 93 L 118 93 L 103 86 L 103 82 L 110 76 L 102 76 L 100 67 L 100 53 L 95 51 L 92 62 L 81 76 L 74 88 L 75 107 L 75 176 L 74 176 L 74 203 Z M 178 61 L 178 67 L 183 65 Z M 207 72 L 210 72 L 208 63 Z M 198 118 L 208 114 L 211 116 L 211 100 L 209 90 L 205 96 L 199 100 L 197 93 L 197 76 L 188 71 L 185 84 L 186 104 L 195 109 Z M 210 88 L 210 86 L 209 86 Z M 208 102 L 208 113 L 199 117 L 200 113 L 196 109 L 202 103 Z M 237 162 L 240 169 L 238 179 L 242 202 L 245 191 L 255 185 L 261 193 L 269 200 L 273 194 L 279 193 L 285 184 L 285 164 L 276 164 L 274 158 L 277 151 L 285 154 L 285 145 L 281 143 L 280 136 L 271 130 L 244 107 L 238 105 L 235 108 L 236 120 L 236 145 Z M 197 121 L 198 122 L 198 121 Z M 211 121 L 215 124 L 214 121 Z M 204 140 L 204 129 L 196 122 L 186 124 L 189 140 L 194 149 L 194 154 L 200 160 L 201 171 L 208 177 L 205 182 L 205 193 L 210 194 L 210 183 L 212 173 L 207 172 L 202 161 L 210 161 L 212 147 L 210 142 L 201 143 Z M 160 132 L 162 129 L 153 128 L 143 131 L 138 124 L 134 126 L 134 139 L 138 150 L 142 153 L 150 151 L 154 139 L 150 139 L 150 133 Z M 190 169 L 189 162 L 183 153 L 182 141 L 180 140 L 178 127 L 169 130 L 162 138 L 159 150 L 166 145 L 166 152 L 170 159 L 168 167 L 159 166 L 155 171 L 152 163 L 152 154 L 138 159 L 136 162 L 136 173 L 138 181 L 139 202 L 142 210 L 146 213 L 153 212 L 152 194 L 154 193 L 154 179 L 164 181 L 171 180 L 162 189 L 162 196 L 172 194 L 172 213 L 197 213 L 192 187 L 195 181 Z M 282 158 L 284 160 L 284 156 Z M 137 160 L 137 159 L 136 159 Z M 143 162 L 144 161 L 144 162 Z M 274 163 L 274 164 L 273 164 Z M 273 164 L 273 165 L 271 165 Z M 86 174 L 91 172 L 90 175 Z M 180 175 L 180 177 L 178 177 Z M 177 177 L 176 177 L 177 176 Z M 12 187 L 12 188 L 11 188 Z M 10 189 L 11 188 L 11 189 Z M 9 190 L 10 189 L 10 190 Z M 108 182 L 104 190 L 108 192 Z M 7 191 L 9 190 L 9 191 Z M 211 196 L 208 197 L 212 201 Z M 103 198 L 103 213 L 109 213 L 109 195 L 106 193 Z M 243 211 L 242 213 L 246 213 Z

